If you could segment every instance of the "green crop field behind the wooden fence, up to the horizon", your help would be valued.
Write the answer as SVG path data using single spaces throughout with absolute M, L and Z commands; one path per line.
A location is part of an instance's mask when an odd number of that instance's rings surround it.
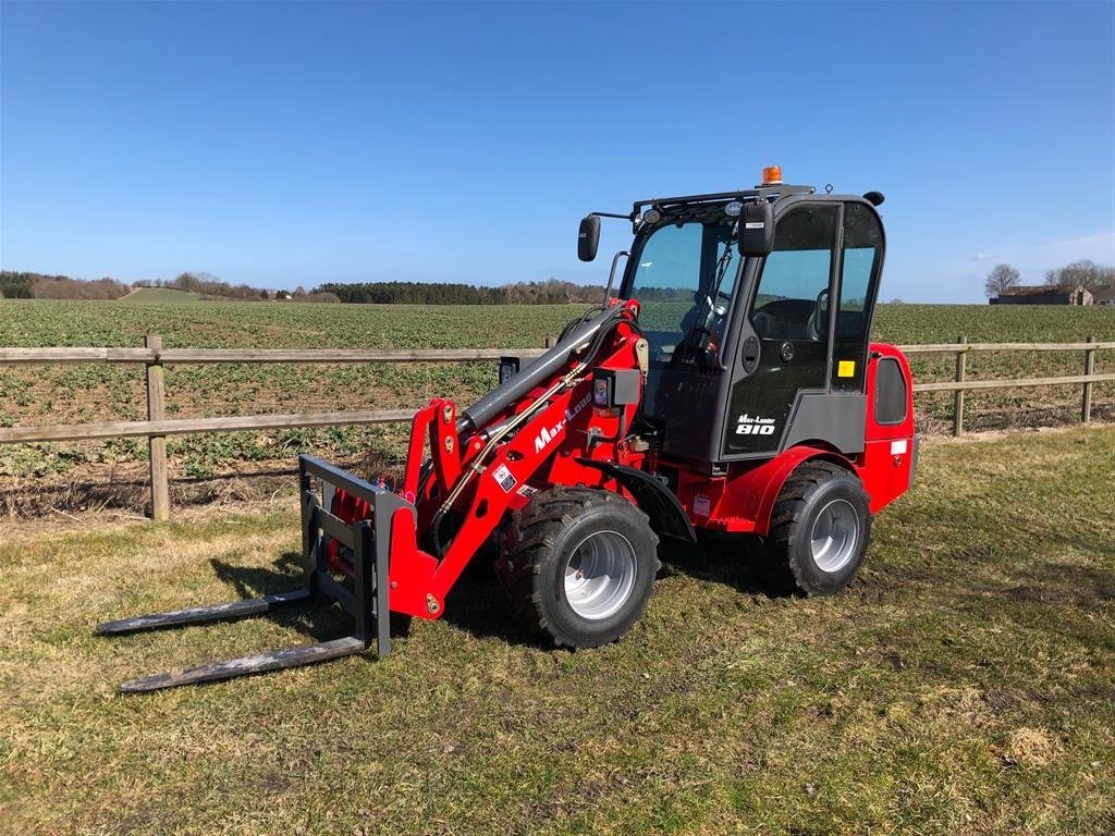
M 152 291 L 157 293 L 158 291 Z M 158 333 L 167 348 L 539 348 L 583 305 L 341 305 L 245 302 L 137 303 L 0 301 L 0 346 L 142 346 Z M 1115 339 L 1115 310 L 990 305 L 881 305 L 874 337 L 898 343 L 1082 341 Z M 1097 371 L 1115 370 L 1102 351 Z M 969 379 L 1078 375 L 1083 354 L 1001 353 L 968 359 Z M 914 361 L 918 380 L 950 379 L 951 358 Z M 70 366 L 0 368 L 0 426 L 139 420 L 146 417 L 143 368 Z M 496 381 L 495 363 L 348 366 L 177 366 L 166 372 L 171 418 L 340 409 L 418 407 L 447 395 L 468 402 Z M 968 395 L 966 426 L 997 429 L 1077 419 L 1078 386 Z M 1097 385 L 1097 418 L 1115 417 L 1115 386 Z M 918 398 L 919 430 L 950 424 L 952 396 Z M 214 495 L 210 479 L 289 467 L 300 450 L 370 467 L 401 451 L 403 427 L 337 427 L 182 436 L 168 440 L 178 500 Z M 47 486 L 51 504 L 134 503 L 146 444 L 107 443 L 0 447 L 4 511 L 23 507 Z M 76 484 L 99 486 L 90 495 Z M 54 489 L 52 488 L 52 489 Z M 119 494 L 112 490 L 119 488 Z M 142 489 L 142 488 L 139 488 Z M 110 495 L 106 495 L 106 490 Z M 30 493 L 29 493 L 30 492 Z M 58 493 L 60 492 L 60 493 Z M 41 504 L 36 499 L 31 505 Z

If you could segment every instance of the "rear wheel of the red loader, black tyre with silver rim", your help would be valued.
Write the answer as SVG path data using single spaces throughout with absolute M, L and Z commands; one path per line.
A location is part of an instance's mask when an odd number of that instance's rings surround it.
M 846 587 L 871 542 L 871 508 L 860 479 L 831 461 L 806 461 L 778 494 L 766 552 L 806 595 Z

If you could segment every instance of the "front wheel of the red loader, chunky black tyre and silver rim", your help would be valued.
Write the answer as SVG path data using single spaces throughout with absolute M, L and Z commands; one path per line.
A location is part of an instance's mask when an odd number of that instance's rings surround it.
M 555 486 L 512 516 L 496 573 L 532 633 L 599 648 L 642 615 L 659 565 L 658 536 L 638 507 L 607 490 Z

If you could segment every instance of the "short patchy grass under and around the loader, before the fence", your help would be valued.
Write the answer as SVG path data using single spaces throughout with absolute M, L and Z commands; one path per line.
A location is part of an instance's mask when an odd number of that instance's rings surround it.
M 860 580 L 773 597 L 667 551 L 620 643 L 542 650 L 478 567 L 352 658 L 147 697 L 167 667 L 341 634 L 329 611 L 97 639 L 293 583 L 293 512 L 0 543 L 11 833 L 1109 834 L 1115 427 L 930 441 Z

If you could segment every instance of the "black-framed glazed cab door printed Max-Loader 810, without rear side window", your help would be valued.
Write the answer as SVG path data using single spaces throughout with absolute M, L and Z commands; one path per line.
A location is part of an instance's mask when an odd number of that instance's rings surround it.
M 826 390 L 840 221 L 836 202 L 798 204 L 778 220 L 734 360 L 724 458 L 776 454 L 798 393 Z

